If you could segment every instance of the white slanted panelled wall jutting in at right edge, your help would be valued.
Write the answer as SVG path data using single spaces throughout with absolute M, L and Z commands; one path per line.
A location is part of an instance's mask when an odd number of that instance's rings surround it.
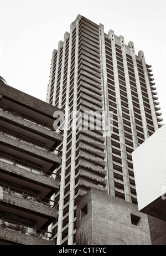
M 162 196 L 166 186 L 166 124 L 132 153 L 138 209 Z

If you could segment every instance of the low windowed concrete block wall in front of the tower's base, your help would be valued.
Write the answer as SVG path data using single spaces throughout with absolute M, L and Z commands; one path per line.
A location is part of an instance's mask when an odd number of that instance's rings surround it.
M 87 204 L 87 214 L 80 217 Z M 140 226 L 131 222 L 131 214 L 140 217 Z M 91 190 L 77 205 L 76 244 L 150 245 L 147 214 L 138 212 L 135 204 Z

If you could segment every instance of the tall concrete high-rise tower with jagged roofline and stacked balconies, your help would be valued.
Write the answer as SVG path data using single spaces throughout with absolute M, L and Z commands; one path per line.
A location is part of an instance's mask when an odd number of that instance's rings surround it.
M 65 112 L 56 244 L 76 243 L 76 204 L 91 188 L 137 204 L 132 152 L 162 126 L 151 72 L 132 42 L 80 15 L 53 51 L 46 101 Z

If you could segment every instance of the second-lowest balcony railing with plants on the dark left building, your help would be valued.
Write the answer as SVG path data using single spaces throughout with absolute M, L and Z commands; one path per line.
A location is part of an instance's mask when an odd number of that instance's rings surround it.
M 55 208 L 57 206 L 56 201 L 53 201 L 53 200 L 45 198 L 45 197 L 40 197 L 37 194 L 32 194 L 27 191 L 18 190 L 18 189 L 15 189 L 10 186 L 6 186 L 1 183 L 0 183 L 0 186 L 3 189 L 3 192 L 1 191 L 1 197 L 0 197 L 1 200 L 3 200 L 3 193 L 8 193 L 8 194 L 11 194 L 12 196 L 22 197 L 24 199 L 32 200 L 36 203 L 38 202 L 40 204 L 44 204 L 45 206 L 48 206 L 51 208 Z

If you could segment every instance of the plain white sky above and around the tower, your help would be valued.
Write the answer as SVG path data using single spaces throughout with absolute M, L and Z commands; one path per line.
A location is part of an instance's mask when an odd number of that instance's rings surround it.
M 81 14 L 143 50 L 165 124 L 165 9 L 165 0 L 0 0 L 0 76 L 45 101 L 53 49 Z

